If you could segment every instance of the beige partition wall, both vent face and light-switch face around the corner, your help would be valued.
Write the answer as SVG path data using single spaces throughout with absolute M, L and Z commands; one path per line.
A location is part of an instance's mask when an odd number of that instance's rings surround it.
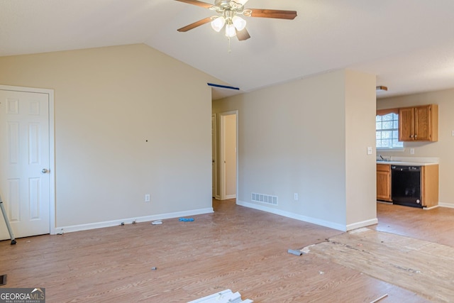
M 367 88 L 357 92 L 357 81 Z M 375 144 L 375 76 L 340 70 L 213 102 L 215 113 L 231 110 L 239 204 L 341 230 L 376 220 L 375 155 L 366 155 Z M 360 121 L 365 129 L 347 136 Z M 279 205 L 252 202 L 253 192 Z

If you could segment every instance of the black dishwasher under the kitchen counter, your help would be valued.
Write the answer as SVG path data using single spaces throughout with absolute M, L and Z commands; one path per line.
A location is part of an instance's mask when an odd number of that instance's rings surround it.
M 391 197 L 393 204 L 422 208 L 421 166 L 391 166 Z

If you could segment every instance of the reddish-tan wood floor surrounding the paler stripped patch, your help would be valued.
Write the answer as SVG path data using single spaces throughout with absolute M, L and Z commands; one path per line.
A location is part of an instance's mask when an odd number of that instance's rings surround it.
M 372 302 L 384 294 L 380 303 L 428 302 L 326 258 L 287 253 L 340 231 L 234 200 L 214 201 L 214 209 L 193 222 L 21 238 L 16 246 L 1 241 L 2 287 L 45 287 L 47 302 L 187 302 L 226 289 L 254 302 Z M 377 209 L 372 229 L 454 246 L 454 209 Z

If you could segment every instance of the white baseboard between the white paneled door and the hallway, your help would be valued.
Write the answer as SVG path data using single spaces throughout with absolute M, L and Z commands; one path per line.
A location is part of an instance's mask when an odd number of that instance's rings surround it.
M 133 218 L 125 218 L 125 219 L 118 219 L 112 221 L 104 221 L 104 222 L 95 222 L 89 224 L 79 224 L 79 225 L 72 225 L 72 226 L 60 226 L 55 227 L 54 234 L 61 234 L 61 233 L 71 233 L 73 231 L 87 231 L 89 229 L 95 228 L 104 228 L 104 227 L 111 227 L 111 226 L 118 226 L 121 225 L 123 222 L 124 224 L 131 224 L 133 221 L 140 223 L 140 222 L 149 222 L 155 221 L 160 219 L 172 219 L 172 218 L 179 218 L 182 216 L 196 216 L 198 214 L 211 214 L 213 213 L 213 208 L 208 207 L 206 209 L 193 209 L 190 211 L 177 211 L 167 214 L 156 214 L 152 216 L 137 216 Z

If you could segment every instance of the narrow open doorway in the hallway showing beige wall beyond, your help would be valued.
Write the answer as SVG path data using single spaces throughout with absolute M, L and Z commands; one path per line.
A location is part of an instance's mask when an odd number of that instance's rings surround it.
M 220 187 L 221 200 L 234 199 L 237 193 L 238 171 L 238 111 L 219 115 L 220 121 Z

